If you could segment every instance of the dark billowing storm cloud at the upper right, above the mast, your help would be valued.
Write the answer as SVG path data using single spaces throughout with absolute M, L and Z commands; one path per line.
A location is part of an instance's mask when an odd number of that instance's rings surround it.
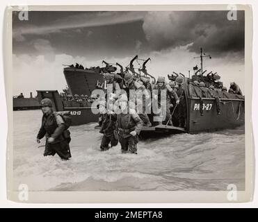
M 188 46 L 189 51 L 200 52 L 202 46 L 213 56 L 239 52 L 243 54 L 244 11 L 237 12 L 237 20 L 227 19 L 228 11 L 149 12 L 145 15 L 143 30 L 152 49 Z

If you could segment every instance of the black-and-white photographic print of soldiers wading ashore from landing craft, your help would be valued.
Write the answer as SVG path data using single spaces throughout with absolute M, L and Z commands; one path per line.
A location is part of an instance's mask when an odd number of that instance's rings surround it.
M 208 9 L 11 10 L 9 189 L 246 191 L 247 11 Z

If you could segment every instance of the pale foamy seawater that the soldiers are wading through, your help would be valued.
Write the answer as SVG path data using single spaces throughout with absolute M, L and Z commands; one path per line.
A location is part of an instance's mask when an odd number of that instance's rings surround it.
M 245 188 L 244 129 L 170 135 L 138 144 L 138 155 L 120 146 L 101 152 L 96 123 L 72 126 L 72 159 L 43 157 L 37 144 L 40 110 L 14 112 L 14 179 L 30 190 L 226 190 Z

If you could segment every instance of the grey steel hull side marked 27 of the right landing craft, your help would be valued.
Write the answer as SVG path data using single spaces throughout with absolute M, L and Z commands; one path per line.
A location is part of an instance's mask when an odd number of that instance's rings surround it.
M 199 133 L 224 128 L 235 128 L 245 123 L 245 101 L 243 99 L 220 99 L 220 114 L 215 99 L 188 99 L 188 132 Z M 201 115 L 200 109 L 203 109 Z

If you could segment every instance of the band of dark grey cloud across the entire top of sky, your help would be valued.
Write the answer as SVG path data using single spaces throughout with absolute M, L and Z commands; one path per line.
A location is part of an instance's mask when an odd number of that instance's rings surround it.
M 13 14 L 14 53 L 40 54 L 35 40 L 47 40 L 55 53 L 99 58 L 132 56 L 187 46 L 200 46 L 212 56 L 234 53 L 243 58 L 244 12 L 237 20 L 228 11 L 29 12 L 29 21 Z M 49 49 L 49 46 L 47 47 Z

